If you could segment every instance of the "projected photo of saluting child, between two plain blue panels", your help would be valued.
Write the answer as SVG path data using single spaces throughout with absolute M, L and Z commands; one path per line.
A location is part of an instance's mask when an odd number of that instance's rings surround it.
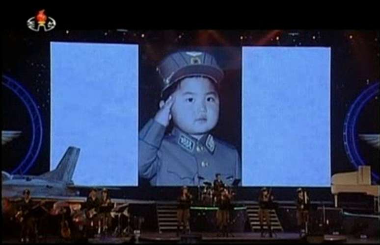
M 139 184 L 241 179 L 241 49 L 140 47 Z

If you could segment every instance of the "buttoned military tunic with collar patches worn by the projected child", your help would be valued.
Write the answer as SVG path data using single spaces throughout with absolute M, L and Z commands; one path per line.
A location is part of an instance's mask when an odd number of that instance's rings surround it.
M 216 173 L 221 179 L 241 179 L 241 162 L 235 147 L 217 140 L 211 134 L 200 140 L 173 127 L 151 119 L 139 133 L 138 171 L 152 186 L 195 186 L 211 182 Z

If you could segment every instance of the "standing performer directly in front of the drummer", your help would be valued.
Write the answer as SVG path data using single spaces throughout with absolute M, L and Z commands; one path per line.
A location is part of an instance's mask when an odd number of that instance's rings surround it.
M 227 226 L 229 222 L 229 209 L 231 205 L 231 195 L 225 188 L 220 189 L 220 196 L 217 199 L 217 227 L 222 236 L 227 236 Z

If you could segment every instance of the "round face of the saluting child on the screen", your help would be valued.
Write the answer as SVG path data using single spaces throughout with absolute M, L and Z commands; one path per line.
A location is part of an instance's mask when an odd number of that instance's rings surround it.
M 182 131 L 199 139 L 197 136 L 215 127 L 219 119 L 219 97 L 208 78 L 183 79 L 173 96 L 173 121 Z

